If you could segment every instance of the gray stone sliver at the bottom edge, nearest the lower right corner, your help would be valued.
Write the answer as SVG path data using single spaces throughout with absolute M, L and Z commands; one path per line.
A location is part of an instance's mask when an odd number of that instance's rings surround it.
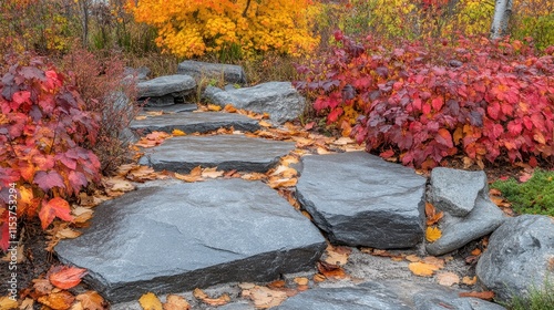
M 413 296 L 416 310 L 505 310 L 504 307 L 479 298 L 459 297 L 445 289 L 422 290 Z

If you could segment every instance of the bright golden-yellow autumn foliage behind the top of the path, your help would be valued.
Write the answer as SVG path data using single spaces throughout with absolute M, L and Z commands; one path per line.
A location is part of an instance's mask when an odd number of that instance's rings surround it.
M 239 49 L 299 55 L 317 43 L 311 0 L 131 0 L 138 22 L 158 30 L 156 43 L 177 56 Z

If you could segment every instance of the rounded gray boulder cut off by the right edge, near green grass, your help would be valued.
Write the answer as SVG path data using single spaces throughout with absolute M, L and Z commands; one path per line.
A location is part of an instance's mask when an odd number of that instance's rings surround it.
M 479 259 L 479 280 L 507 301 L 514 294 L 529 296 L 543 288 L 545 277 L 554 279 L 554 219 L 522 215 L 507 219 L 489 239 Z

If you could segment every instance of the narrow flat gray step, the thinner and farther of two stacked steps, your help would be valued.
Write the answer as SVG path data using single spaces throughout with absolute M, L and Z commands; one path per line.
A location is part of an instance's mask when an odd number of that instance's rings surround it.
M 217 131 L 222 127 L 234 127 L 236 131 L 255 132 L 259 130 L 259 124 L 258 121 L 240 114 L 202 112 L 152 116 L 146 120 L 133 121 L 130 125 L 132 131 L 142 131 L 144 134 L 151 132 L 171 133 L 173 130 L 179 130 L 187 134 L 196 132 L 207 133 Z

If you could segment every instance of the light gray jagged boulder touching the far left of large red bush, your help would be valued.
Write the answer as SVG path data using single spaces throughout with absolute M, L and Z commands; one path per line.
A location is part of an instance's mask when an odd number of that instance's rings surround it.
M 306 100 L 290 82 L 269 82 L 229 91 L 208 86 L 204 96 L 219 106 L 232 104 L 256 113 L 269 113 L 276 123 L 297 118 L 306 107 Z

